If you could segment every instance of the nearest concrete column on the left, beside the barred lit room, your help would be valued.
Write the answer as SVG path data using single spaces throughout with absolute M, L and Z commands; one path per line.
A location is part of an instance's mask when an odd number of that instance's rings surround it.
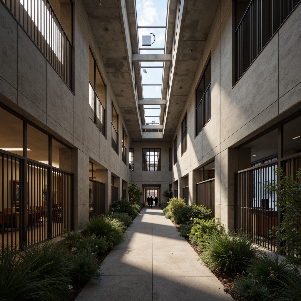
M 89 157 L 79 149 L 71 150 L 74 173 L 74 228 L 80 229 L 89 219 Z

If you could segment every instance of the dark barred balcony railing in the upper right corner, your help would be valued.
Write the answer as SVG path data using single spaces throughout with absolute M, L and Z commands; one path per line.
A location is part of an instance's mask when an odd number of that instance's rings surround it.
M 301 0 L 253 0 L 235 30 L 235 82 Z

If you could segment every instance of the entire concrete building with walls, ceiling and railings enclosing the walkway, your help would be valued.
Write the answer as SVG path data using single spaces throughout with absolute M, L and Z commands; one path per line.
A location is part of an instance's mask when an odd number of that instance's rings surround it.
M 172 188 L 208 204 L 231 230 L 279 222 L 260 185 L 301 167 L 300 1 L 274 7 L 275 24 L 256 23 L 255 0 L 167 1 L 163 54 L 141 51 L 134 0 L 41 1 L 45 19 L 19 2 L 23 16 L 0 2 L 3 243 L 80 228 L 131 183 L 141 202 Z M 143 96 L 142 62 L 163 62 L 160 98 Z

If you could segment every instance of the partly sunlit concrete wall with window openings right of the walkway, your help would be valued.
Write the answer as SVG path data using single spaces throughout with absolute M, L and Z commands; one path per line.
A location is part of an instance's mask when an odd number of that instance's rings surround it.
M 222 0 L 216 11 L 173 136 L 173 140 L 177 136 L 178 162 L 172 170 L 172 182 L 179 181 L 179 188 L 184 187 L 183 177 L 189 175 L 192 203 L 195 202 L 194 186 L 200 178 L 193 172 L 215 160 L 216 216 L 221 216 L 222 222 L 231 229 L 234 227 L 234 172 L 250 167 L 248 150 L 237 152 L 231 148 L 301 108 L 301 5 L 234 86 L 232 5 L 232 1 Z M 195 137 L 195 90 L 209 57 L 211 119 Z M 188 149 L 181 155 L 181 122 L 186 112 Z

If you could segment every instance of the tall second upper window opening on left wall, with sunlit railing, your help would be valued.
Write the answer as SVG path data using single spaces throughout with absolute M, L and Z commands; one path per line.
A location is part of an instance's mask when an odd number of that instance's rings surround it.
M 89 117 L 105 135 L 105 87 L 95 58 L 89 48 Z

